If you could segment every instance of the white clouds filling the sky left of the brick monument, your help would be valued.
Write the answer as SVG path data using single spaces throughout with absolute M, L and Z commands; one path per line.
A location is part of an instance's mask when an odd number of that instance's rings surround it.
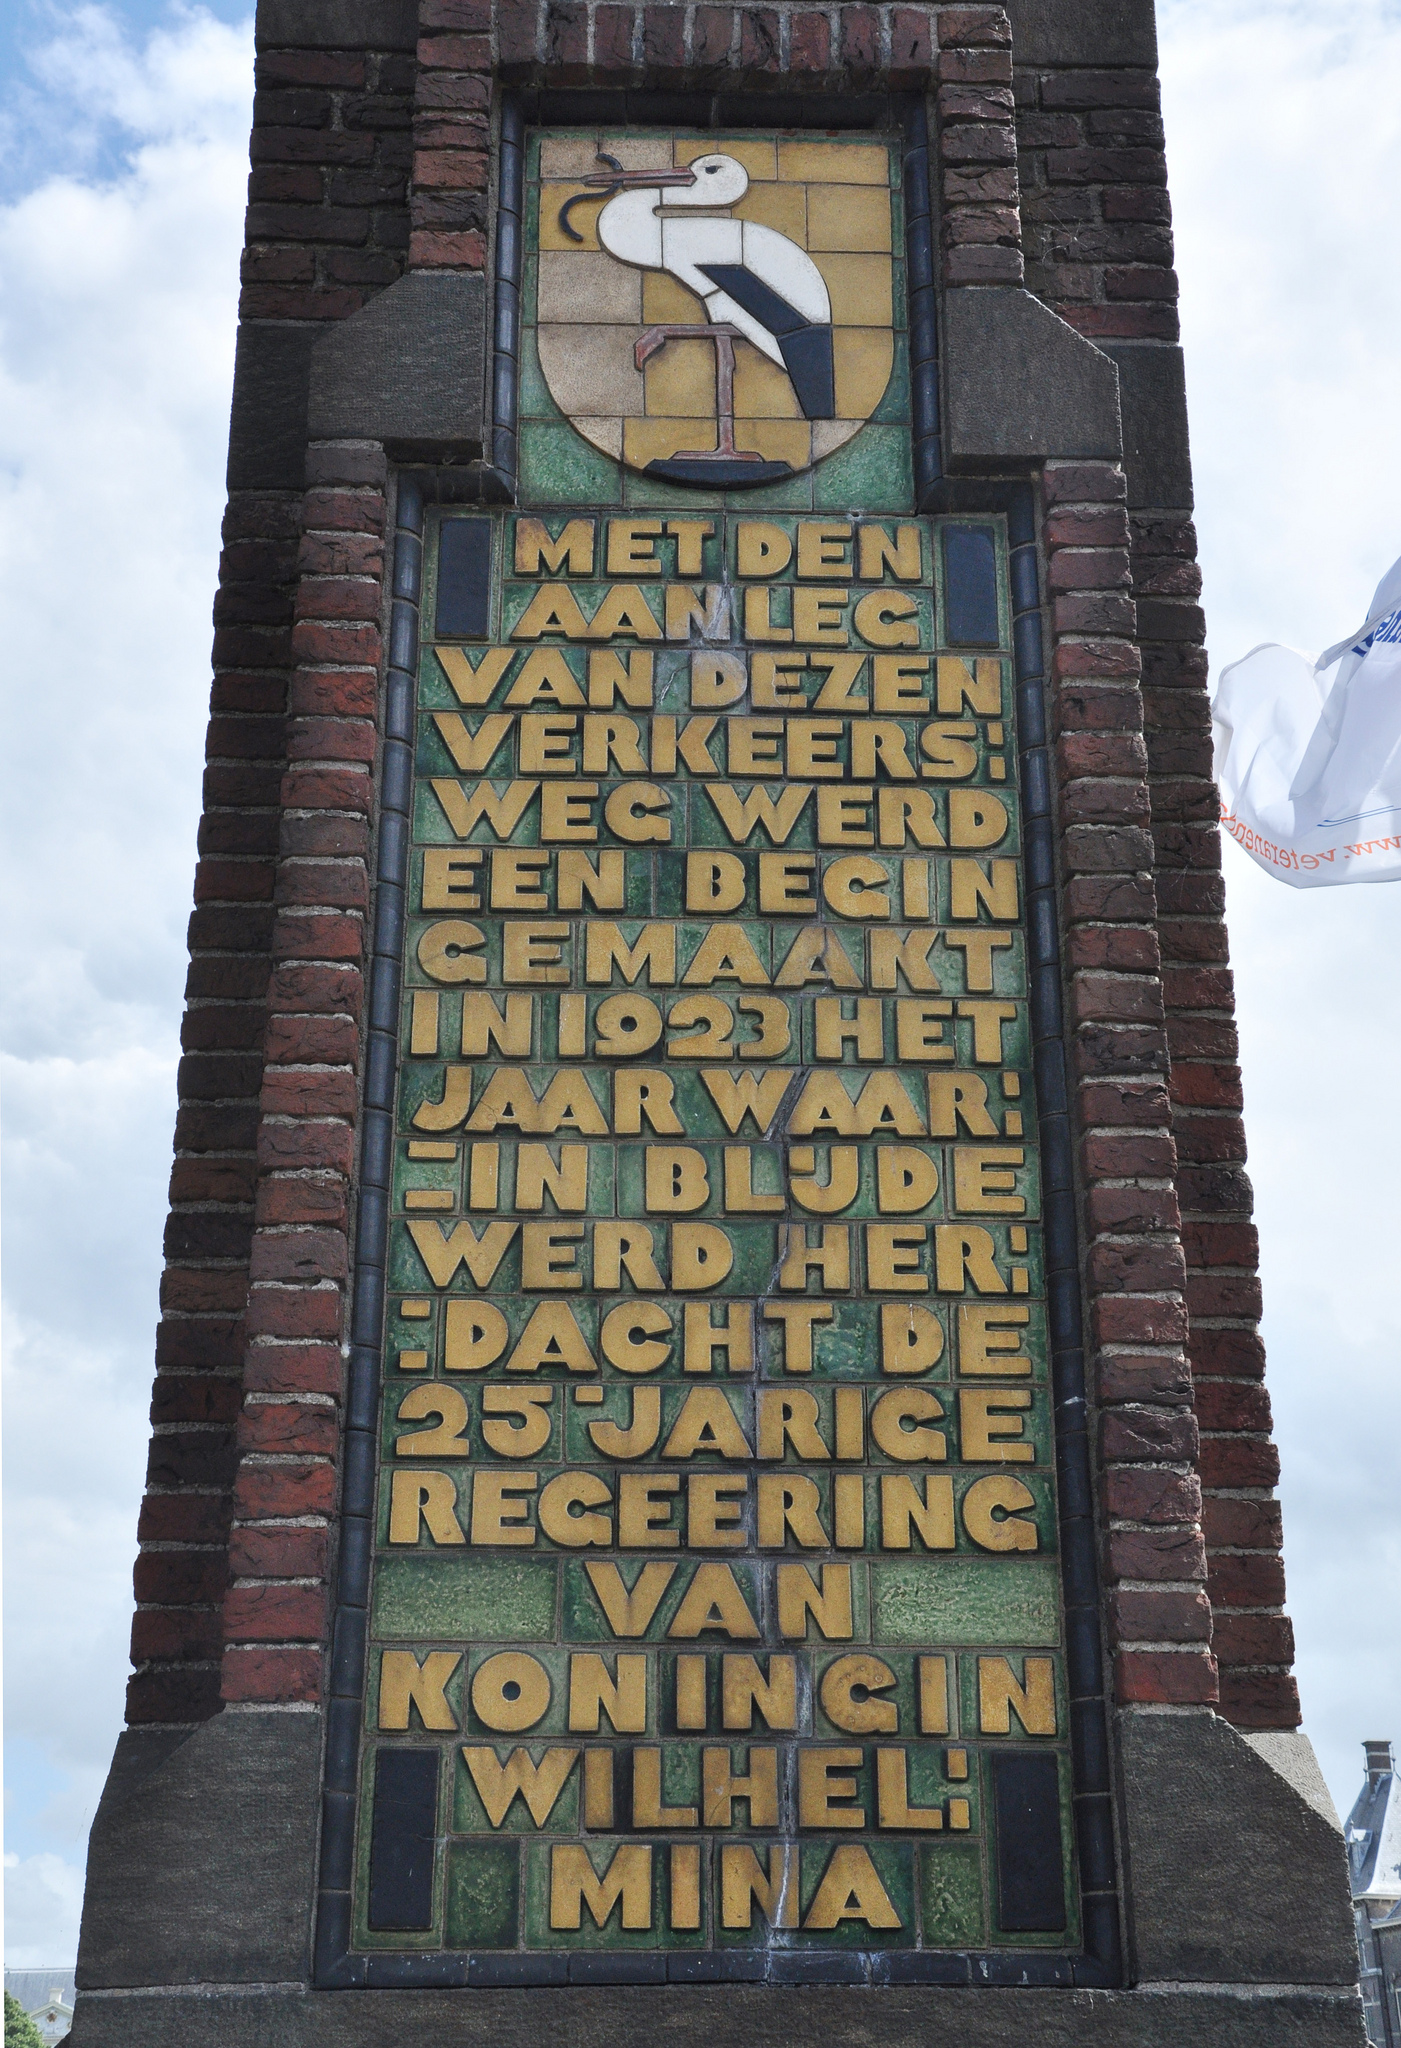
M 82 8 L 37 74 L 49 174 L 0 209 L 0 991 L 6 1714 L 63 1786 L 6 1860 L 8 1960 L 41 1964 L 127 1675 L 252 33 Z

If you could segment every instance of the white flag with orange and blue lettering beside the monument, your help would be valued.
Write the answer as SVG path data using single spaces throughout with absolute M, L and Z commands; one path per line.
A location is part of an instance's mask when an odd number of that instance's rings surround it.
M 1292 889 L 1401 881 L 1401 561 L 1317 662 L 1254 647 L 1211 707 L 1221 825 Z

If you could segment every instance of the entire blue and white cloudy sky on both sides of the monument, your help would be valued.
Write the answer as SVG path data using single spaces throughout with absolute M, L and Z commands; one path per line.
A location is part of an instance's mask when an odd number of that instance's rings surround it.
M 1401 553 L 1401 8 L 1161 0 L 1213 657 Z M 6 1962 L 121 1726 L 252 88 L 236 0 L 0 8 Z M 1305 1722 L 1401 1737 L 1401 891 L 1227 846 Z

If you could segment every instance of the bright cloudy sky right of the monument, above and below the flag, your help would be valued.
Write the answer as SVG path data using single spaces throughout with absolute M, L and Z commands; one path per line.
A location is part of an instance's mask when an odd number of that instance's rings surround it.
M 1317 651 L 1401 553 L 1401 20 L 1163 0 L 1159 35 L 1215 666 L 1262 639 Z M 1288 1608 L 1346 1810 L 1360 1741 L 1401 1739 L 1401 897 L 1225 862 Z

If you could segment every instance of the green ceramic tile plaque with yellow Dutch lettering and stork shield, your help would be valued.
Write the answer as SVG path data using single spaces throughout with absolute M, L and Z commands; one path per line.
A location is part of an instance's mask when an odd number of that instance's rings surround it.
M 1069 1952 L 1006 530 L 911 512 L 899 152 L 526 193 L 520 506 L 426 535 L 352 1942 Z

